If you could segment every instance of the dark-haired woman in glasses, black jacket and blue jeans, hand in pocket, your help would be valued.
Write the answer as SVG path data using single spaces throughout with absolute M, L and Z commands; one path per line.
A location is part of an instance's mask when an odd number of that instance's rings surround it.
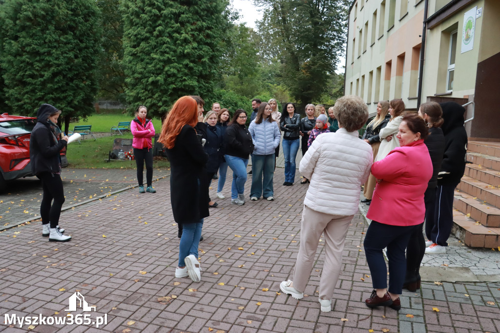
M 238 108 L 225 130 L 225 161 L 232 170 L 231 203 L 244 204 L 244 185 L 248 157 L 253 152 L 250 132 L 245 127 L 246 113 Z

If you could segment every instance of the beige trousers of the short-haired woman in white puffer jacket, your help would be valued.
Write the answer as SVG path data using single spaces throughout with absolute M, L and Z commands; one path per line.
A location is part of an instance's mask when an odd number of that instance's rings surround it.
M 342 265 L 342 250 L 354 215 L 331 215 L 304 205 L 300 224 L 300 246 L 293 272 L 293 287 L 303 292 L 310 277 L 321 233 L 324 233 L 324 264 L 319 280 L 319 298 L 333 298 Z

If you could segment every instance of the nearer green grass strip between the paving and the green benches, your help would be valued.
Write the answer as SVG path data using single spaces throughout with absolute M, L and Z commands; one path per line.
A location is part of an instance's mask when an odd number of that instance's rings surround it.
M 98 118 L 98 116 L 96 118 Z M 136 167 L 134 160 L 110 162 L 104 161 L 107 160 L 109 150 L 112 150 L 113 140 L 116 137 L 132 138 L 132 134 L 128 132 L 123 136 L 119 134 L 113 136 L 104 136 L 97 138 L 97 141 L 95 141 L 91 136 L 86 135 L 86 138 L 81 140 L 81 144 L 79 144 L 78 141 L 70 143 L 67 147 L 66 152 L 67 160 L 69 161 L 69 167 L 134 169 Z M 155 157 L 155 160 L 153 160 L 153 168 L 168 167 L 170 167 L 170 163 L 164 157 Z

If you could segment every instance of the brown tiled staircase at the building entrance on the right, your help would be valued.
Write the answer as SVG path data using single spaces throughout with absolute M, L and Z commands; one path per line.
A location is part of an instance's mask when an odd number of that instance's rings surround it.
M 468 246 L 500 250 L 500 142 L 469 141 L 466 158 L 451 232 Z

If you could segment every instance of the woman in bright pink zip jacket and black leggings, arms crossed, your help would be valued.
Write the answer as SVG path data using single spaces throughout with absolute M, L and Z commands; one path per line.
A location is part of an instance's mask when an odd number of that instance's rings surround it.
M 155 193 L 156 190 L 151 185 L 153 178 L 153 150 L 151 137 L 154 136 L 154 127 L 150 119 L 146 119 L 147 108 L 139 105 L 135 110 L 135 119 L 130 122 L 130 131 L 133 135 L 132 147 L 135 163 L 137 164 L 137 182 L 139 183 L 139 193 L 144 193 L 142 182 L 142 170 L 146 162 L 146 191 Z

